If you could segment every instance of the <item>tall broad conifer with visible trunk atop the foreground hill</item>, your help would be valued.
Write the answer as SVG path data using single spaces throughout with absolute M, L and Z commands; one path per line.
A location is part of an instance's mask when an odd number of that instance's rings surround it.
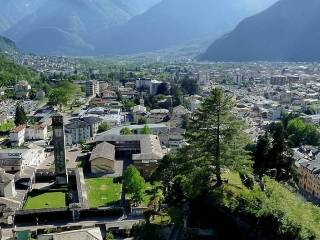
M 205 172 L 213 167 L 217 186 L 222 185 L 221 167 L 243 169 L 248 155 L 244 150 L 243 123 L 232 113 L 234 101 L 223 89 L 215 88 L 193 114 L 186 137 L 194 166 Z

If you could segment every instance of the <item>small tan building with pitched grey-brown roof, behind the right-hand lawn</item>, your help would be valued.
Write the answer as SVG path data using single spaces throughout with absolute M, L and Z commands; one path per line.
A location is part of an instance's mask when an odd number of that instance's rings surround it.
M 90 165 L 94 174 L 114 173 L 115 146 L 107 142 L 98 144 L 91 153 Z

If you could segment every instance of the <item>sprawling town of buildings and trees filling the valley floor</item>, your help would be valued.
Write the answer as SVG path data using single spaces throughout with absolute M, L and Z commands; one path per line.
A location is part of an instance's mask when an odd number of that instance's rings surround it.
M 84 68 L 77 59 L 31 59 L 20 63 L 32 64 L 37 80 L 1 88 L 3 239 L 125 239 L 150 209 L 163 211 L 153 221 L 168 221 L 154 174 L 189 145 L 192 115 L 219 88 L 234 99 L 251 144 L 283 123 L 299 172 L 292 188 L 320 202 L 319 64 L 92 61 Z

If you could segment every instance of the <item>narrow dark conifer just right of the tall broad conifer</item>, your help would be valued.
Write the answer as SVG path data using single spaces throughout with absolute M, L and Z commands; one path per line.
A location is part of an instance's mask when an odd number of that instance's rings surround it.
M 270 139 L 268 134 L 259 136 L 255 154 L 254 154 L 254 171 L 261 178 L 268 168 L 268 159 L 270 151 Z

